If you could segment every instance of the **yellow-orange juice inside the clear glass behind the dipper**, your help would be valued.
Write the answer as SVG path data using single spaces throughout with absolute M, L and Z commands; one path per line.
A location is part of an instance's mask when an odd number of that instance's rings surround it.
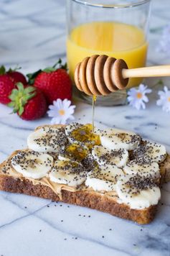
M 67 38 L 67 63 L 73 78 L 75 66 L 94 54 L 122 58 L 128 68 L 146 64 L 148 44 L 138 27 L 118 22 L 91 22 L 72 29 Z M 131 78 L 128 87 L 137 86 L 141 78 Z

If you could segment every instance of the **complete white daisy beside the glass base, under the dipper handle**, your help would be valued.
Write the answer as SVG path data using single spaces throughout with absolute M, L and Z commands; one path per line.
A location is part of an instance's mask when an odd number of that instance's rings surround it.
M 128 91 L 128 103 L 130 106 L 133 106 L 136 109 L 146 109 L 145 102 L 148 102 L 148 97 L 146 93 L 151 93 L 151 89 L 148 89 L 148 86 L 144 86 L 143 83 L 138 86 L 138 88 L 131 88 Z

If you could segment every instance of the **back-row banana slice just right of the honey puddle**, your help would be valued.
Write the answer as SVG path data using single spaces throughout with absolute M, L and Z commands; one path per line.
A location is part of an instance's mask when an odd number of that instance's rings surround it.
M 134 150 L 141 137 L 134 132 L 127 132 L 121 129 L 95 130 L 95 134 L 100 135 L 100 142 L 108 150 Z

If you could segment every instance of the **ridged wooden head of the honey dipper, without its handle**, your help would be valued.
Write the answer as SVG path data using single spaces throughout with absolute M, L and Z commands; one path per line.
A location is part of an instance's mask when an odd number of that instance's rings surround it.
M 126 88 L 128 78 L 123 78 L 123 68 L 128 69 L 124 60 L 106 55 L 86 57 L 75 68 L 75 84 L 90 96 L 108 95 Z

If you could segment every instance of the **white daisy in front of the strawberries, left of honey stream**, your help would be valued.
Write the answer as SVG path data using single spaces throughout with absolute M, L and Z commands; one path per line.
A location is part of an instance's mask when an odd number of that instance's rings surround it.
M 71 105 L 71 101 L 64 99 L 57 99 L 53 101 L 53 105 L 49 105 L 47 114 L 52 117 L 51 124 L 67 124 L 75 119 L 72 114 L 75 112 L 75 105 Z

